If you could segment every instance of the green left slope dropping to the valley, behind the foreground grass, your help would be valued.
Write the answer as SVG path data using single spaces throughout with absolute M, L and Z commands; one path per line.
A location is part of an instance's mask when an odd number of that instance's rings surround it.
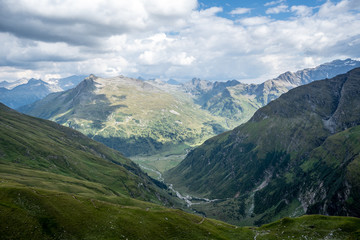
M 48 189 L 54 189 L 49 184 L 54 180 L 62 190 L 69 187 L 68 182 L 74 186 L 69 191 L 74 192 L 87 189 L 106 195 L 167 201 L 167 194 L 159 195 L 162 190 L 153 180 L 119 152 L 75 130 L 20 114 L 2 104 L 0 112 L 2 175 L 14 180 L 18 176 L 16 181 L 31 176 L 33 186 L 48 185 Z M 40 172 L 35 174 L 36 171 Z

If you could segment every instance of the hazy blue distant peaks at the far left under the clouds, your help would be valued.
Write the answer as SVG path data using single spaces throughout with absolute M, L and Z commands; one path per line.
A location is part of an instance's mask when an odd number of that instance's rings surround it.
M 19 79 L 15 82 L 0 82 L 0 102 L 11 108 L 31 104 L 43 99 L 52 92 L 65 91 L 75 87 L 85 76 L 71 76 L 62 79 L 51 79 L 44 82 L 40 79 Z

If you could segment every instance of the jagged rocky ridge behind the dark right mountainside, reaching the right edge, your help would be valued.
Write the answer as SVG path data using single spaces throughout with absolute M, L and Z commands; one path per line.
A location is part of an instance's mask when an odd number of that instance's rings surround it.
M 183 85 L 195 102 L 215 116 L 224 117 L 228 128 L 232 129 L 249 120 L 257 109 L 292 88 L 346 73 L 360 67 L 360 61 L 335 60 L 316 68 L 308 68 L 295 73 L 286 72 L 277 78 L 261 84 L 244 84 L 237 80 L 210 82 L 193 79 Z

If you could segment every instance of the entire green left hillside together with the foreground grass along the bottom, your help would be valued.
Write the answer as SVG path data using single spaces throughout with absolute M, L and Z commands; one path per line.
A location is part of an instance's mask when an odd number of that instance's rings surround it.
M 359 237 L 360 220 L 350 217 L 313 215 L 238 227 L 189 214 L 177 209 L 186 207 L 172 192 L 191 206 L 214 201 L 183 197 L 120 153 L 2 104 L 0 125 L 2 239 Z

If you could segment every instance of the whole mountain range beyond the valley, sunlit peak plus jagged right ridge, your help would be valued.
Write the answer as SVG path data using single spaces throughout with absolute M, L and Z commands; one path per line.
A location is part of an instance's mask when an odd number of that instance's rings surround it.
M 244 123 L 291 88 L 357 66 L 359 61 L 336 60 L 287 72 L 262 84 L 193 79 L 174 85 L 92 76 L 76 88 L 51 94 L 20 110 L 75 128 L 126 156 L 161 153 L 167 158 L 185 154 L 189 147 Z

